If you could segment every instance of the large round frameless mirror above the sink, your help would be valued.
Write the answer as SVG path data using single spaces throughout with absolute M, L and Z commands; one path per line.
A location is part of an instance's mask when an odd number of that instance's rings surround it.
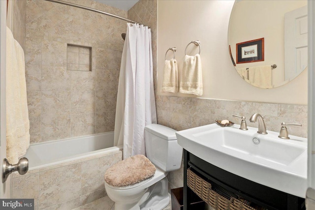
M 307 0 L 236 0 L 228 49 L 239 75 L 258 88 L 282 86 L 307 68 Z

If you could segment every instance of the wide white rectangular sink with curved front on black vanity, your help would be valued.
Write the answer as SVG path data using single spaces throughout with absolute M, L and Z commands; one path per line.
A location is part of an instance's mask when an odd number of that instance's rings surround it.
M 176 136 L 185 150 L 221 169 L 304 198 L 307 139 L 289 135 L 284 140 L 278 138 L 278 132 L 258 134 L 258 128 L 239 127 L 210 124 L 176 132 Z M 259 144 L 254 144 L 254 138 Z

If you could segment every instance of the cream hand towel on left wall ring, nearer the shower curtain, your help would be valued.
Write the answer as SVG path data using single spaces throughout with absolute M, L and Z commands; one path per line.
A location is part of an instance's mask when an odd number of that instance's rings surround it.
M 175 59 L 165 60 L 162 92 L 178 92 L 178 68 Z

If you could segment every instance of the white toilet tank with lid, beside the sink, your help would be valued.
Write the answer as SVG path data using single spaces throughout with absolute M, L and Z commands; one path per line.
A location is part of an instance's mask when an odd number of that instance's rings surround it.
M 181 167 L 183 148 L 177 144 L 176 130 L 160 124 L 145 127 L 147 157 L 163 171 Z

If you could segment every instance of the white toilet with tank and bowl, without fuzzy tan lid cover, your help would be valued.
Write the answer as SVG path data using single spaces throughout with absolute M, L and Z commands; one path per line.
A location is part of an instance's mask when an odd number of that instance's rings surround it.
M 127 186 L 113 186 L 105 181 L 106 193 L 115 202 L 114 210 L 163 210 L 169 205 L 166 176 L 181 167 L 183 155 L 175 132 L 160 124 L 145 127 L 147 158 L 156 172 L 149 179 Z

